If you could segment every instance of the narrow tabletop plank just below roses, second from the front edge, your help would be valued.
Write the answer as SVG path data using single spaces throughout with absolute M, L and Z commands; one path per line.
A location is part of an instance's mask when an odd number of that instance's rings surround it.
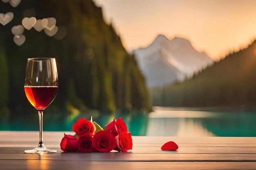
M 66 161 L 256 161 L 256 154 L 144 154 L 144 153 L 56 153 L 0 154 L 0 160 Z

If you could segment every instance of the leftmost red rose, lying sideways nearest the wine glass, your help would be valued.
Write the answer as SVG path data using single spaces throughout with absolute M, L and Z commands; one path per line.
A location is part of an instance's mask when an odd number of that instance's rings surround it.
M 61 150 L 68 151 L 68 152 L 75 152 L 77 151 L 76 143 L 78 139 L 73 135 L 66 135 L 64 133 L 64 137 L 61 140 Z

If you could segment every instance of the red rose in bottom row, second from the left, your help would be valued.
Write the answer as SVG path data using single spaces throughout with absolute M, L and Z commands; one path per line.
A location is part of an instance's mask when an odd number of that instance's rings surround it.
M 91 133 L 85 133 L 79 137 L 77 148 L 80 152 L 92 152 L 92 137 Z

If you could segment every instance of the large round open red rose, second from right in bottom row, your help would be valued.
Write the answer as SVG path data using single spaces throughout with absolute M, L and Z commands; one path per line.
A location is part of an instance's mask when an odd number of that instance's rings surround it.
M 95 152 L 110 152 L 117 142 L 111 132 L 100 130 L 92 138 L 92 146 Z

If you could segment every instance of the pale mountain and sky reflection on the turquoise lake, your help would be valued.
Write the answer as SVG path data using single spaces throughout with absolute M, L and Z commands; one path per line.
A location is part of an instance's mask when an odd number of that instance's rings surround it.
M 163 107 L 153 109 L 154 112 L 148 115 L 147 136 L 215 136 L 202 125 L 203 119 L 215 116 L 210 112 Z

